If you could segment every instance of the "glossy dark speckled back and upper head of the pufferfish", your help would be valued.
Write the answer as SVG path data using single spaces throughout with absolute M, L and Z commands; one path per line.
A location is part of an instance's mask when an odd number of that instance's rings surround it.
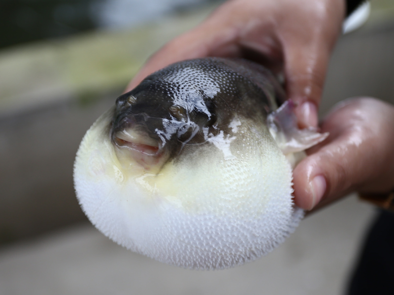
M 157 71 L 120 96 L 112 120 L 112 140 L 127 128 L 146 133 L 158 151 L 170 156 L 206 142 L 228 127 L 234 116 L 265 124 L 284 93 L 272 74 L 246 60 L 193 59 Z

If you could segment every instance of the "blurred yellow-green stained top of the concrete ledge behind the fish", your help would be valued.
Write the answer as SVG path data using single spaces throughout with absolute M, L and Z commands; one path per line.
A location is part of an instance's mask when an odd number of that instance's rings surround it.
M 195 27 L 215 6 L 122 31 L 95 31 L 0 52 L 0 118 L 59 100 L 94 99 L 123 89 L 168 40 Z

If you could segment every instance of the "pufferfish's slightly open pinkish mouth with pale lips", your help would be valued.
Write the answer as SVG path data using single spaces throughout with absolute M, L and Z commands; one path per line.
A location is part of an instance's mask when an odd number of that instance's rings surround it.
M 112 142 L 118 150 L 122 164 L 131 164 L 130 160 L 133 160 L 145 170 L 153 172 L 160 169 L 166 158 L 159 140 L 135 128 L 125 128 L 115 132 Z

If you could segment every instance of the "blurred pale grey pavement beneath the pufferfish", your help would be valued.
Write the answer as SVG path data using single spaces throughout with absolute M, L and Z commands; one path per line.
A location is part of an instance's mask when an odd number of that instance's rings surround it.
M 167 266 L 76 226 L 0 251 L 0 294 L 340 295 L 373 215 L 349 197 L 304 219 L 267 256 L 217 271 Z

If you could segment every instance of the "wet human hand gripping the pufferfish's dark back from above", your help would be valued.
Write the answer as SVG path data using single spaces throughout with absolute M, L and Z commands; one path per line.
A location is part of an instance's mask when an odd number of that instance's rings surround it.
M 126 91 L 176 61 L 211 56 L 253 59 L 283 72 L 300 127 L 316 126 L 328 59 L 344 16 L 344 0 L 227 1 L 154 54 Z

